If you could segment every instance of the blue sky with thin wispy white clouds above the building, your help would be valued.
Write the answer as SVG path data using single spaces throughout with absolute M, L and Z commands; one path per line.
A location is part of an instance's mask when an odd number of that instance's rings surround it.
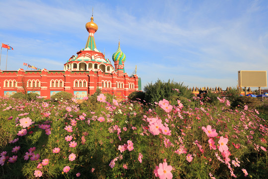
M 120 40 L 125 70 L 137 66 L 142 87 L 170 79 L 226 89 L 240 70 L 267 71 L 267 0 L 0 0 L 0 43 L 14 49 L 7 70 L 64 70 L 85 47 L 92 8 L 97 49 L 112 62 Z

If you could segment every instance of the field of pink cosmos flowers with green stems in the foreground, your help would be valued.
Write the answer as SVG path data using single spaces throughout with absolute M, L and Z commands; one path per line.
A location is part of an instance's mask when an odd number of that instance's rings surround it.
M 247 105 L 0 98 L 1 179 L 268 178 L 268 122 Z M 92 109 L 92 108 L 91 108 Z

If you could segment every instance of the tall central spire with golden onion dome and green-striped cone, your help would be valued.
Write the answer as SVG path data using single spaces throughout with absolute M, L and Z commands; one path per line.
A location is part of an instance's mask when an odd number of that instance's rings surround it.
M 94 50 L 96 48 L 94 33 L 98 30 L 98 25 L 93 22 L 93 9 L 92 9 L 92 17 L 90 19 L 91 21 L 87 22 L 85 25 L 86 30 L 89 33 L 85 49 L 90 48 L 90 50 Z

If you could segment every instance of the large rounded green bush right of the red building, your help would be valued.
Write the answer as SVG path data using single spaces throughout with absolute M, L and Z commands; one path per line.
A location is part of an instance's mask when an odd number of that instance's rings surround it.
M 178 89 L 179 92 L 175 89 Z M 192 91 L 188 90 L 183 83 L 177 83 L 174 81 L 162 82 L 157 80 L 155 84 L 148 84 L 144 87 L 145 101 L 153 103 L 155 101 L 160 101 L 162 99 L 167 99 L 171 104 L 175 104 L 179 96 L 184 96 L 191 99 L 194 94 Z

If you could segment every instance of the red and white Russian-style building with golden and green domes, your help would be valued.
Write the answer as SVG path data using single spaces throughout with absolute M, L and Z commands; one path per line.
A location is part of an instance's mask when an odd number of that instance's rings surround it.
M 86 23 L 86 29 L 89 36 L 85 48 L 64 64 L 64 71 L 0 71 L 0 96 L 26 90 L 50 98 L 57 92 L 66 91 L 82 99 L 100 88 L 103 93 L 124 98 L 137 91 L 138 77 L 136 74 L 130 77 L 125 72 L 126 56 L 121 51 L 120 43 L 112 57 L 113 66 L 96 48 L 94 33 L 98 26 L 93 22 L 93 16 Z

